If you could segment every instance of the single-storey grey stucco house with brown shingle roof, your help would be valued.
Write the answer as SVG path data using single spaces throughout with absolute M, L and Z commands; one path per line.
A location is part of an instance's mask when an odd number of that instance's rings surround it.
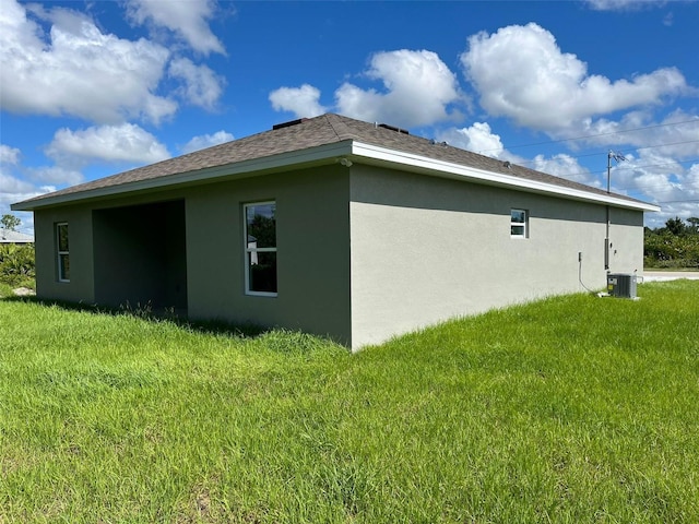
M 34 212 L 39 297 L 150 302 L 353 349 L 641 272 L 643 212 L 659 211 L 332 114 L 12 209 Z

